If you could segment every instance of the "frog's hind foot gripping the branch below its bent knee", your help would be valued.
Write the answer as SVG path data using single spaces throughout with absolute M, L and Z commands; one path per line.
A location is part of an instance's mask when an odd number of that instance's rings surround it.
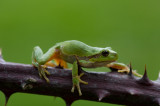
M 46 75 L 50 75 L 50 73 L 46 70 L 47 66 L 45 66 L 45 65 L 39 65 L 37 62 L 32 63 L 32 64 L 33 64 L 33 66 L 35 66 L 36 68 L 38 68 L 39 76 L 41 78 L 44 78 L 49 83 L 49 79 L 46 76 Z

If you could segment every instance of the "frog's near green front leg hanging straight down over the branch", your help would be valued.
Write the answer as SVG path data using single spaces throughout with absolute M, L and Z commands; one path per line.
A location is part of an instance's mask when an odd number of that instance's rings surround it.
M 81 73 L 80 75 L 78 75 L 78 71 L 79 71 L 78 70 L 78 62 L 75 61 L 73 63 L 73 69 L 72 69 L 72 83 L 73 83 L 73 86 L 72 86 L 71 92 L 74 92 L 75 87 L 77 87 L 79 96 L 81 96 L 82 92 L 81 92 L 81 88 L 80 88 L 80 83 L 88 84 L 88 82 L 85 82 L 85 81 L 81 80 L 81 77 L 84 75 L 84 73 Z

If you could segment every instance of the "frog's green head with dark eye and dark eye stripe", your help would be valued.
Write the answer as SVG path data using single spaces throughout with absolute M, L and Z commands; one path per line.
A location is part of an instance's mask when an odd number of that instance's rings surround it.
M 118 54 L 110 47 L 99 48 L 99 53 L 91 56 L 89 61 L 91 62 L 107 62 L 111 63 L 118 59 Z

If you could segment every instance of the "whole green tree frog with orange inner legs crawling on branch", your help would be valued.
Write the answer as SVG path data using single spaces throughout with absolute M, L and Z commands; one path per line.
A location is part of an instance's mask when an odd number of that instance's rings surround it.
M 117 59 L 118 54 L 110 47 L 92 47 L 77 40 L 57 43 L 45 54 L 39 46 L 36 46 L 32 53 L 32 64 L 38 68 L 40 77 L 43 77 L 47 82 L 49 79 L 46 74 L 49 75 L 50 73 L 46 67 L 55 66 L 51 62 L 52 60 L 64 68 L 67 68 L 66 62 L 73 64 L 71 92 L 74 92 L 75 87 L 77 87 L 79 95 L 82 95 L 79 84 L 88 84 L 88 82 L 81 80 L 84 73 L 78 75 L 78 64 L 84 68 L 109 67 L 118 69 L 120 72 L 129 72 L 128 66 L 115 62 Z

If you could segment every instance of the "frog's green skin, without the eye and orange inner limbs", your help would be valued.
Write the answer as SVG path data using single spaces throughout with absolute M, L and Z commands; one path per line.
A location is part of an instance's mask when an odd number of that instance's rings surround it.
M 110 47 L 92 47 L 76 40 L 57 43 L 55 46 L 51 47 L 45 54 L 43 54 L 40 47 L 36 46 L 33 50 L 32 63 L 38 68 L 39 75 L 41 77 L 43 76 L 47 80 L 47 82 L 49 82 L 49 79 L 46 77 L 45 72 L 47 74 L 49 73 L 47 72 L 47 70 L 45 70 L 45 68 L 41 67 L 41 65 L 44 65 L 46 62 L 48 62 L 48 60 L 54 54 L 55 50 L 60 51 L 60 57 L 63 60 L 73 64 L 73 87 L 71 91 L 74 92 L 74 88 L 77 87 L 79 95 L 82 95 L 79 83 L 87 84 L 87 82 L 84 82 L 80 79 L 83 74 L 78 75 L 77 63 L 79 63 L 81 67 L 85 68 L 107 67 L 107 64 L 112 63 L 118 59 L 117 53 L 111 50 Z M 103 56 L 103 51 L 108 51 L 109 55 Z

